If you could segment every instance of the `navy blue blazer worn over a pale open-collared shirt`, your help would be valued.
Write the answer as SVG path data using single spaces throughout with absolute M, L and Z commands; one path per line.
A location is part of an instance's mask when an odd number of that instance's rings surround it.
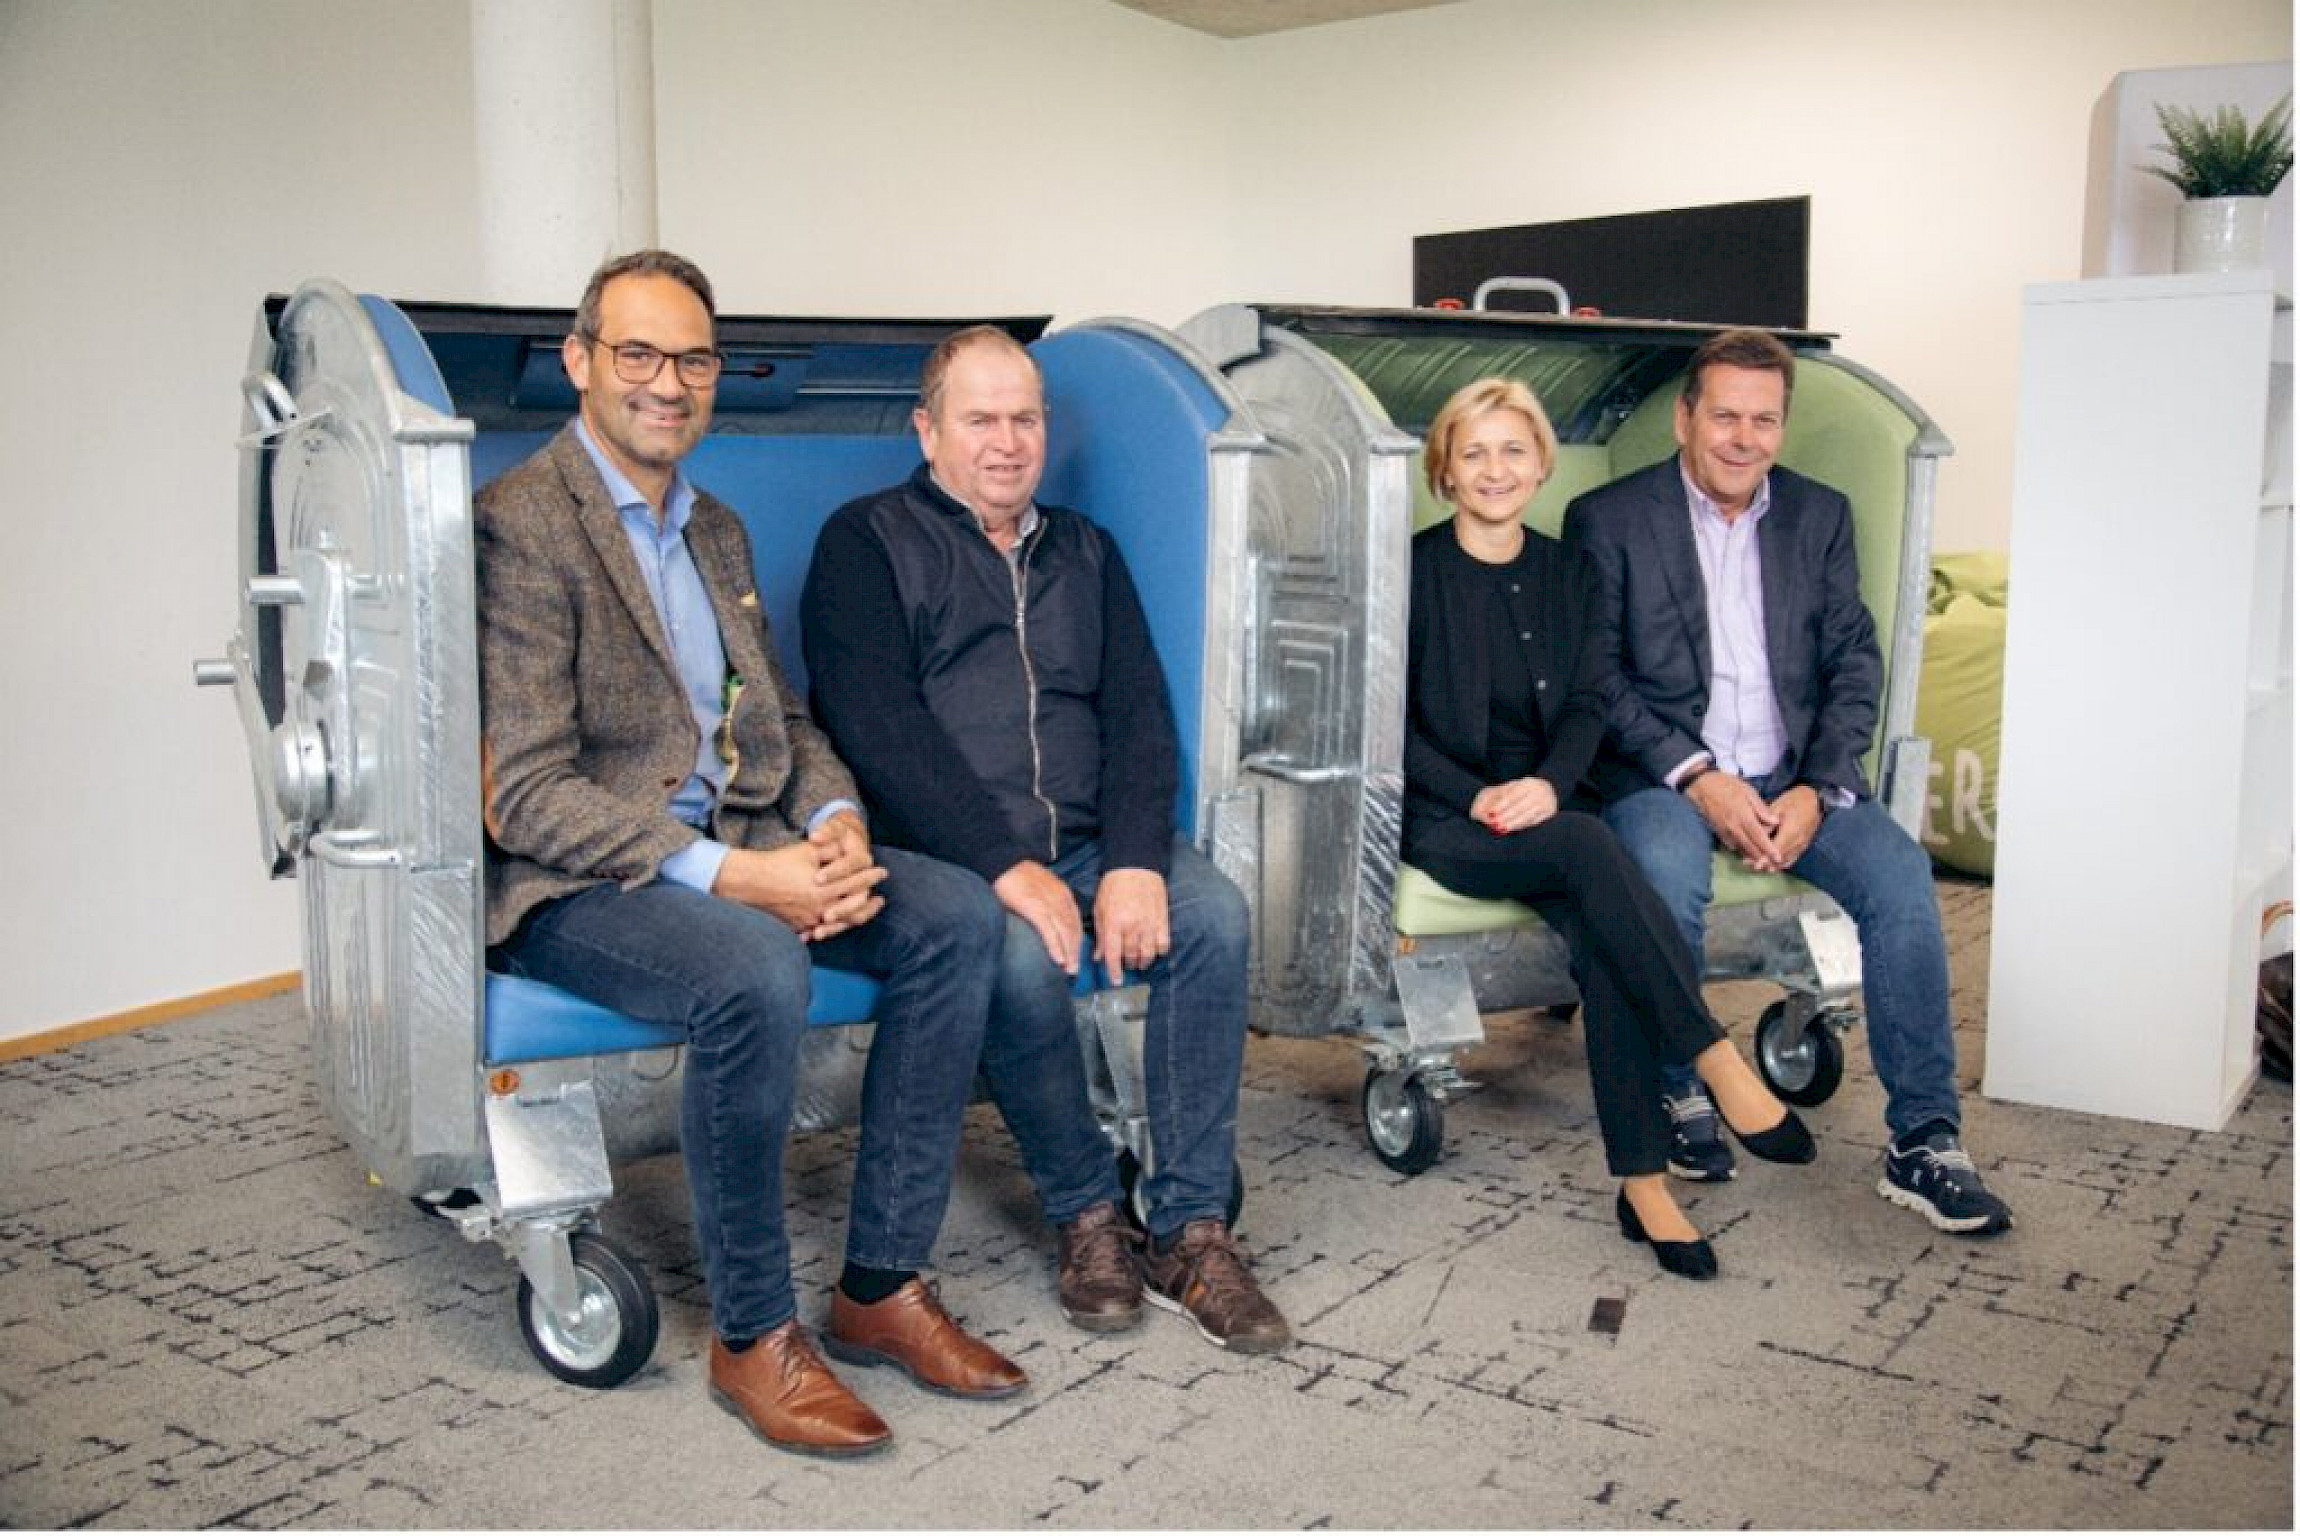
M 1778 464 L 1771 481 L 1757 561 L 1782 766 L 1799 784 L 1868 796 L 1861 757 L 1877 738 L 1884 655 L 1861 602 L 1851 504 Z M 1564 536 L 1589 561 L 1589 644 L 1610 731 L 1594 779 L 1617 800 L 1704 750 L 1709 593 L 1677 458 L 1575 497 Z

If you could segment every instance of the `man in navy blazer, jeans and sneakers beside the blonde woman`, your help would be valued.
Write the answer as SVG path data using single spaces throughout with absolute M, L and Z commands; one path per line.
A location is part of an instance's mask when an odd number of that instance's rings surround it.
M 1943 1232 L 2012 1226 L 1960 1145 L 1948 947 L 1932 865 L 1870 793 L 1884 662 L 1861 602 L 1851 506 L 1773 460 L 1796 361 L 1723 331 L 1686 370 L 1672 460 L 1566 510 L 1594 573 L 1589 637 L 1605 821 L 1702 954 L 1711 851 L 1789 871 L 1861 929 L 1870 1058 L 1886 1090 L 1877 1193 Z M 1732 1177 L 1716 1111 L 1670 1085 L 1670 1170 Z

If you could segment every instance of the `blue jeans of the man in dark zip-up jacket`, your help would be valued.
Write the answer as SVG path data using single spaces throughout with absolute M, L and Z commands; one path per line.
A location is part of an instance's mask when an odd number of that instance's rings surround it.
M 1102 844 L 1081 844 L 1053 874 L 1092 927 Z M 1143 1196 L 1157 1237 L 1228 1214 L 1247 1058 L 1247 899 L 1203 853 L 1175 839 L 1166 911 L 1173 952 L 1141 973 L 1150 984 L 1143 1072 L 1155 1152 Z M 1072 977 L 1046 959 L 1037 929 L 1010 915 L 982 1078 L 1056 1226 L 1118 1198 L 1111 1143 L 1086 1097 L 1072 989 Z

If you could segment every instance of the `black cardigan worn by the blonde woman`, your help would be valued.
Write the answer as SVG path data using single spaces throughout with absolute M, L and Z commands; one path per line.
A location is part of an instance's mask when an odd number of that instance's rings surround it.
M 1534 644 L 1527 667 L 1548 754 L 1536 777 L 1557 802 L 1575 800 L 1605 736 L 1594 658 L 1582 646 L 1582 561 L 1555 538 L 1525 531 L 1534 577 Z M 1486 789 L 1488 706 L 1481 566 L 1454 538 L 1454 522 L 1414 533 L 1412 607 L 1405 616 L 1405 853 L 1417 825 L 1467 816 Z

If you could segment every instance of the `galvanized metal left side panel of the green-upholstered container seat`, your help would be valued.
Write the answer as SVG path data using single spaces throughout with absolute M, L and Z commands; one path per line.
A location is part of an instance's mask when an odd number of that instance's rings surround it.
M 1214 858 L 1254 906 L 1260 1030 L 1325 1035 L 1389 989 L 1405 729 L 1412 437 L 1327 354 L 1224 308 L 1182 340 L 1228 375 L 1267 451 L 1242 510 L 1244 697 Z M 1208 637 L 1208 646 L 1217 637 Z

